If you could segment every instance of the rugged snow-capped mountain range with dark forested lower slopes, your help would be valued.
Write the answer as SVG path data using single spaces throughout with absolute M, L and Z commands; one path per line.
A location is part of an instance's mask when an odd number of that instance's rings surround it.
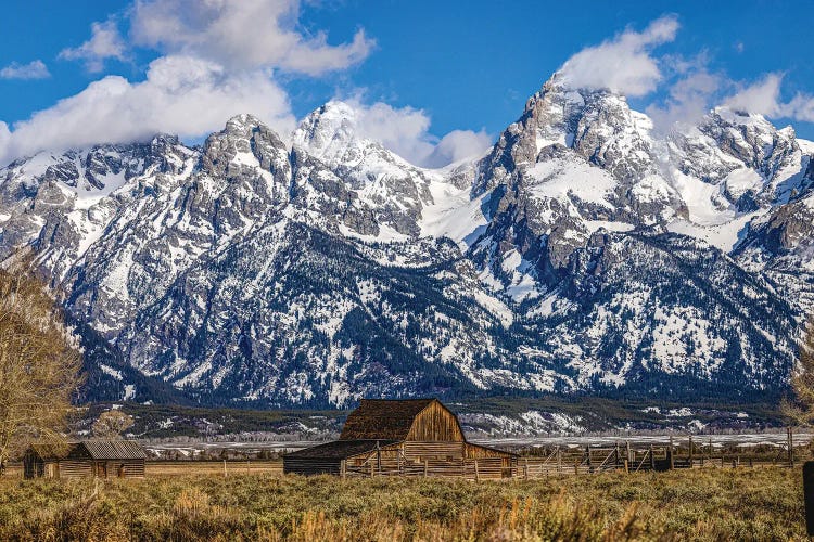
M 814 302 L 814 144 L 791 128 L 720 107 L 664 134 L 555 75 L 471 163 L 414 166 L 340 102 L 284 139 L 242 115 L 201 146 L 0 169 L 0 257 L 36 250 L 97 386 L 344 405 L 787 382 Z

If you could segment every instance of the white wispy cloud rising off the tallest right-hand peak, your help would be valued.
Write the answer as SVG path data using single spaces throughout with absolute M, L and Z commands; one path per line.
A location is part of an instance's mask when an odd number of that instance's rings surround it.
M 610 89 L 628 96 L 648 94 L 662 80 L 658 60 L 650 51 L 673 41 L 677 30 L 677 18 L 667 15 L 641 33 L 628 29 L 599 46 L 583 49 L 562 65 L 561 81 L 572 88 Z

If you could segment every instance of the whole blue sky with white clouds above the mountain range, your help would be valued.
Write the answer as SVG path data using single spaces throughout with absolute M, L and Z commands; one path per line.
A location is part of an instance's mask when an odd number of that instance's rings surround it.
M 400 154 L 432 162 L 446 141 L 448 162 L 494 139 L 570 57 L 628 38 L 638 49 L 623 52 L 658 69 L 645 90 L 625 82 L 616 89 L 636 108 L 673 121 L 737 96 L 733 103 L 814 139 L 814 2 L 212 3 L 5 5 L 0 121 L 8 129 L 0 126 L 0 160 L 37 145 L 154 131 L 194 141 L 243 109 L 285 131 L 342 98 L 366 112 L 367 125 L 392 122 L 393 134 L 383 138 Z M 666 34 L 643 38 L 659 21 L 669 23 Z M 607 56 L 592 59 L 586 69 L 599 62 L 601 75 Z

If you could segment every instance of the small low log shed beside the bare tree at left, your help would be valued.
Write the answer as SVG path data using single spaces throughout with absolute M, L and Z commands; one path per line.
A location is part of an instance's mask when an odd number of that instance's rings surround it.
M 143 478 L 144 450 L 133 440 L 84 440 L 54 451 L 34 444 L 23 456 L 26 478 Z

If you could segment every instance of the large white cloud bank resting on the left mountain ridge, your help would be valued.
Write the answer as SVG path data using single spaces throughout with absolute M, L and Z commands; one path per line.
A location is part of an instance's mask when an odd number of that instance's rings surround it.
M 15 124 L 11 133 L 0 126 L 0 163 L 41 150 L 147 140 L 158 132 L 201 137 L 246 112 L 281 133 L 295 124 L 285 92 L 268 73 L 227 74 L 208 61 L 165 56 L 150 64 L 144 81 L 107 76 Z

